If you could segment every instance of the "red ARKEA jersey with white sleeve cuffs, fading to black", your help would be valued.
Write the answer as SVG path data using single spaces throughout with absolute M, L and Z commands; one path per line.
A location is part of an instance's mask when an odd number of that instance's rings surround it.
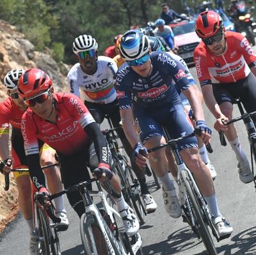
M 26 155 L 39 153 L 38 138 L 54 150 L 71 155 L 90 137 L 84 132 L 86 125 L 95 122 L 79 97 L 70 93 L 54 94 L 56 101 L 56 123 L 44 120 L 28 109 L 21 120 Z

